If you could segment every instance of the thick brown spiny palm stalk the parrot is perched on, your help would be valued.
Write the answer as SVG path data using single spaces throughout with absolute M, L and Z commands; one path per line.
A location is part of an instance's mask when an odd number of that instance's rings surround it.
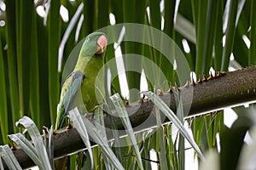
M 187 117 L 252 102 L 256 100 L 256 66 L 240 71 L 220 73 L 215 77 L 209 77 L 208 80 L 202 78 L 198 83 L 192 82 L 179 89 L 183 99 L 184 113 L 187 113 Z M 167 92 L 160 98 L 165 101 L 166 105 L 170 106 L 172 111 L 176 111 L 174 94 Z M 126 108 L 126 111 L 130 116 L 135 132 L 154 127 L 154 104 L 152 101 L 133 103 Z M 112 114 L 116 127 L 124 129 L 118 116 L 116 116 L 116 112 L 113 111 Z M 104 113 L 105 126 L 111 128 L 109 117 L 107 113 Z M 87 116 L 87 118 L 94 123 L 92 115 Z M 150 123 L 143 123 L 146 121 Z M 169 121 L 165 120 L 165 122 Z M 109 139 L 111 138 L 110 136 Z M 85 149 L 75 128 L 58 131 L 54 136 L 54 146 L 55 159 Z M 14 150 L 13 152 L 21 167 L 26 168 L 34 165 L 23 150 Z

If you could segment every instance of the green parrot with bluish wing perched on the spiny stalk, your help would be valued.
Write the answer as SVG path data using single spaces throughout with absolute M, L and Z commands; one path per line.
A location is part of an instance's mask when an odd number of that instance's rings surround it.
M 108 38 L 102 32 L 93 32 L 85 38 L 77 64 L 61 88 L 55 130 L 68 125 L 67 114 L 74 107 L 84 113 L 98 105 L 102 96 L 96 95 L 95 87 L 102 90 L 104 86 L 104 77 L 98 72 L 104 65 L 107 45 Z M 96 77 L 99 78 L 97 84 Z

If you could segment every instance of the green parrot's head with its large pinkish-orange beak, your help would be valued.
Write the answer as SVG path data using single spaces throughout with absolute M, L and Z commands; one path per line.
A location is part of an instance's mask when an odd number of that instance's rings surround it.
M 93 32 L 88 35 L 80 51 L 81 56 L 92 56 L 102 54 L 107 48 L 108 40 L 106 34 L 102 32 Z

